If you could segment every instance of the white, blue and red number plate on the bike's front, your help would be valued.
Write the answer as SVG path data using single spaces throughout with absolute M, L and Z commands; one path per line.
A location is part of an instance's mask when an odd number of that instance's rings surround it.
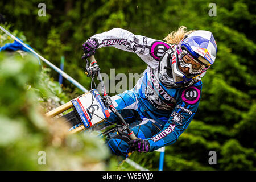
M 71 100 L 71 102 L 86 128 L 96 125 L 110 115 L 97 90 L 90 90 L 90 92 Z

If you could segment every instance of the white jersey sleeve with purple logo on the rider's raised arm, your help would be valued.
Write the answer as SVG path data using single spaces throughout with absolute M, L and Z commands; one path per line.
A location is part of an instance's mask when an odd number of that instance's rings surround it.
M 101 34 L 93 35 L 92 38 L 98 40 L 98 48 L 113 46 L 123 51 L 134 52 L 152 68 L 158 66 L 160 57 L 171 47 L 171 44 L 161 40 L 134 35 L 122 28 L 113 28 Z

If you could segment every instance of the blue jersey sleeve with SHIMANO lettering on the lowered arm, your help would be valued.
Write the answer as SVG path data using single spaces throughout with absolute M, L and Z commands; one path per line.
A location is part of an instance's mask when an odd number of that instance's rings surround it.
M 201 81 L 180 90 L 176 107 L 172 110 L 170 118 L 162 131 L 147 139 L 150 143 L 150 151 L 175 143 L 187 129 L 199 106 L 201 90 Z

